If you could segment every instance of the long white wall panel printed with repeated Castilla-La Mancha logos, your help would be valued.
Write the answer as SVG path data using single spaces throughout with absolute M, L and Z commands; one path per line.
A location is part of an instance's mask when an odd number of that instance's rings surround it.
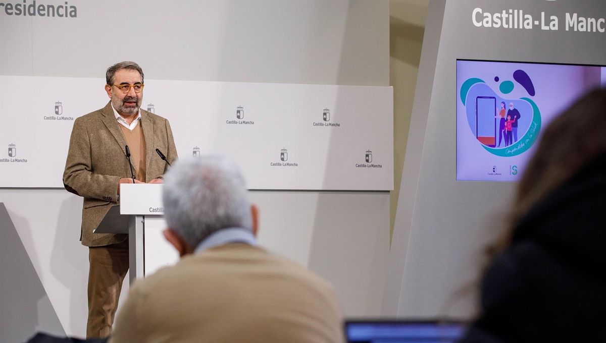
M 105 106 L 104 84 L 0 76 L 0 187 L 62 187 L 73 120 Z M 176 80 L 145 86 L 142 108 L 170 121 L 179 156 L 228 155 L 250 189 L 393 189 L 391 87 Z

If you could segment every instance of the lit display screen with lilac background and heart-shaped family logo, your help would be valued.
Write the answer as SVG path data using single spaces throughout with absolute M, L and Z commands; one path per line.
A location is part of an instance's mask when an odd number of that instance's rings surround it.
M 518 180 L 545 126 L 605 82 L 602 66 L 457 60 L 456 179 Z

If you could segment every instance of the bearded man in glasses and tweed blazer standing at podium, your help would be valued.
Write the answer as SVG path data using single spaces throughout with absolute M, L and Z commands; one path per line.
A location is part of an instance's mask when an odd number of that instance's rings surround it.
M 105 73 L 104 108 L 78 117 L 65 162 L 65 189 L 84 197 L 81 241 L 88 246 L 87 338 L 112 331 L 122 281 L 128 270 L 128 235 L 94 234 L 122 183 L 162 183 L 177 157 L 168 120 L 141 109 L 144 79 L 135 62 L 119 62 Z

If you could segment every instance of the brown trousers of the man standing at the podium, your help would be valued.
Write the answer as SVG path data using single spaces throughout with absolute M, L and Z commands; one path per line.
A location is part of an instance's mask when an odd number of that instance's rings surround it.
M 88 263 L 86 338 L 105 338 L 112 333 L 122 281 L 128 270 L 128 240 L 89 247 Z

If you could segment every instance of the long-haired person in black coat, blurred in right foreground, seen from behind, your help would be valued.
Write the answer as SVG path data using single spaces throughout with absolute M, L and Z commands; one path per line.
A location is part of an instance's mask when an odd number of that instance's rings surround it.
M 606 91 L 548 125 L 462 342 L 604 342 Z

